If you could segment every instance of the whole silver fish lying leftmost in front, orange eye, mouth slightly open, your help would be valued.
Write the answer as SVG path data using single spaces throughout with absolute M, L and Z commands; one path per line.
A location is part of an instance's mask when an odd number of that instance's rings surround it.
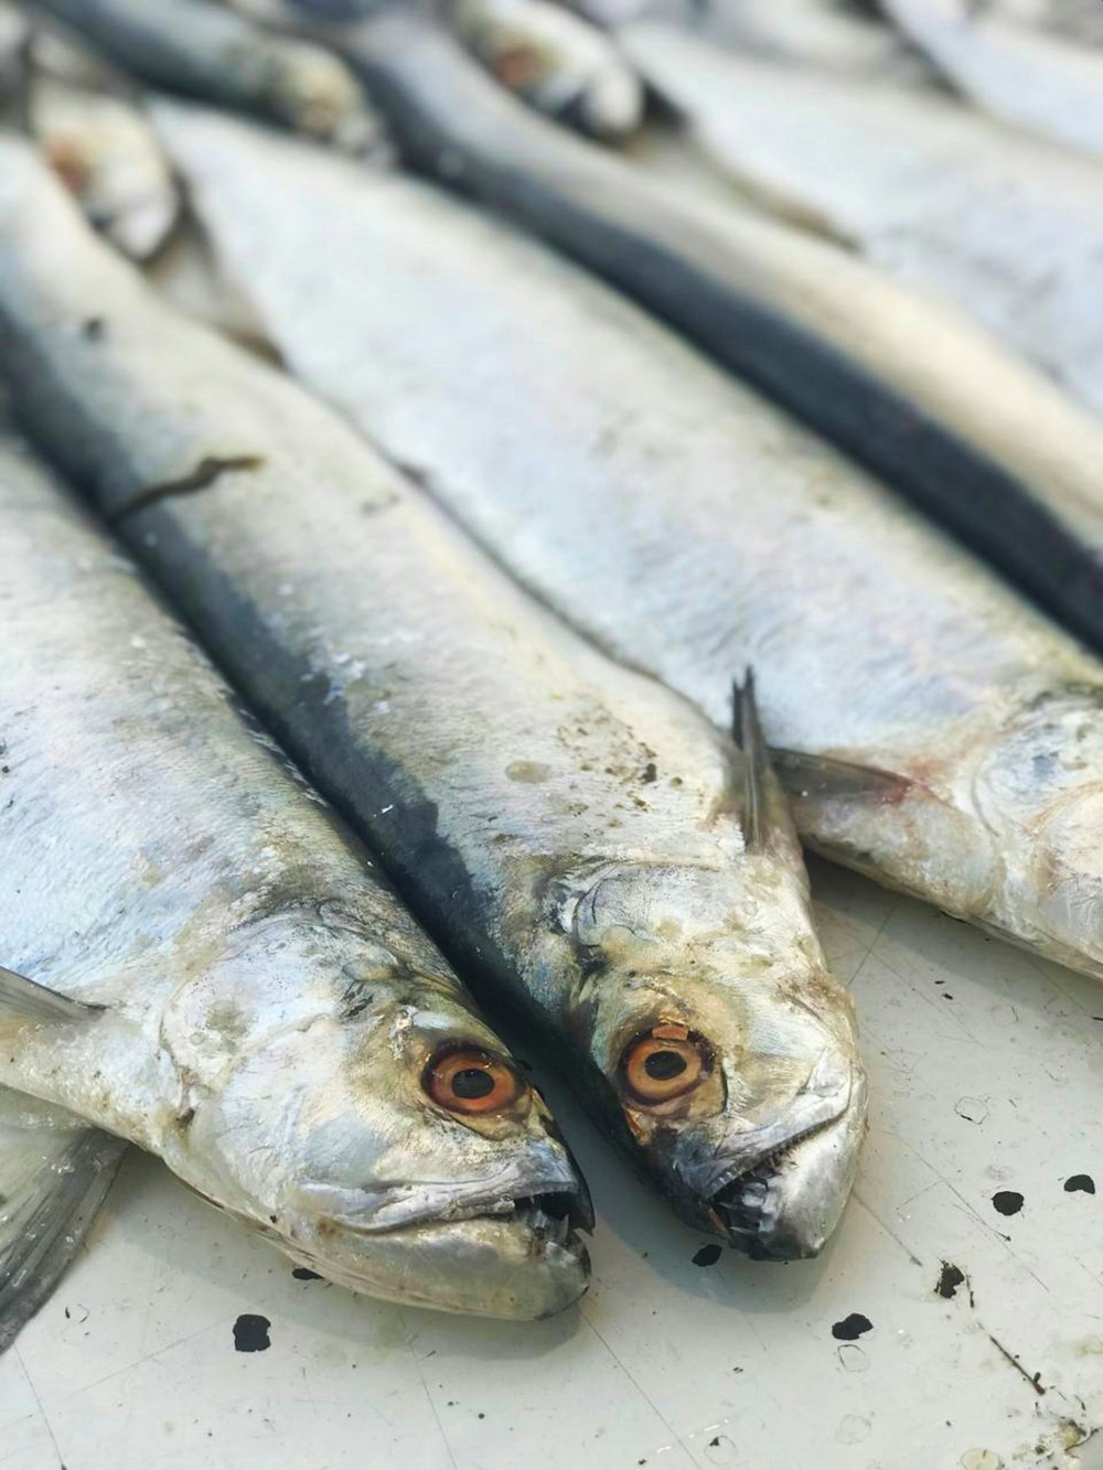
M 454 972 L 10 428 L 0 512 L 0 1342 L 125 1142 L 353 1291 L 568 1307 L 585 1186 Z

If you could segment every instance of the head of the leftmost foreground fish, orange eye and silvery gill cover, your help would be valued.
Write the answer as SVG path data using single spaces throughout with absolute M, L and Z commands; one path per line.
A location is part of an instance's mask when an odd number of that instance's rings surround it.
M 454 980 L 384 966 L 340 1011 L 274 1025 L 199 1095 L 181 1147 L 212 1202 L 351 1289 L 512 1319 L 585 1291 L 585 1183 Z

